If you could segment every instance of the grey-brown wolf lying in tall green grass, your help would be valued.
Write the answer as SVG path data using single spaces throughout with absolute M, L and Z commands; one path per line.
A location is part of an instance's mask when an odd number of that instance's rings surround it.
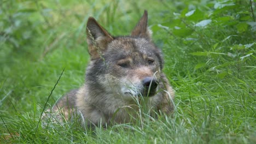
M 130 35 L 114 37 L 93 17 L 86 26 L 90 62 L 85 83 L 63 95 L 51 112 L 78 113 L 89 124 L 120 124 L 136 121 L 141 107 L 150 115 L 173 111 L 173 88 L 162 72 L 162 52 L 148 29 L 144 11 Z M 61 116 L 59 116 L 61 118 Z

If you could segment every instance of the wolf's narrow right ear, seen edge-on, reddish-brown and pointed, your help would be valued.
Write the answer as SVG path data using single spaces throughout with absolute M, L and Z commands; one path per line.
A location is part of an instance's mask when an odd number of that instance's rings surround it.
M 151 39 L 151 34 L 152 31 L 148 29 L 148 11 L 144 10 L 141 20 L 139 20 L 136 27 L 132 30 L 131 35 Z

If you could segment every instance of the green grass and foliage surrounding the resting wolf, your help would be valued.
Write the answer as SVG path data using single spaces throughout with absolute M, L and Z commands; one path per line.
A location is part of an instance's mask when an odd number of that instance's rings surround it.
M 256 143 L 255 1 L 0 3 L 0 143 Z M 126 35 L 144 9 L 176 91 L 173 115 L 94 131 L 37 125 L 64 68 L 47 107 L 83 85 L 88 17 Z

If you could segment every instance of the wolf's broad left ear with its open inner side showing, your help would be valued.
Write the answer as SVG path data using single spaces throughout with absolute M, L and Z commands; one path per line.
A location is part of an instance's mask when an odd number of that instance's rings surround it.
M 93 17 L 88 19 L 86 34 L 91 59 L 101 57 L 108 43 L 113 40 L 113 37 Z

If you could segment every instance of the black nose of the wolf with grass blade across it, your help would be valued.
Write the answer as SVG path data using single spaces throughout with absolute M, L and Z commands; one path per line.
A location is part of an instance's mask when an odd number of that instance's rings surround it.
M 151 97 L 156 92 L 156 88 L 158 87 L 158 80 L 156 80 L 155 77 L 145 77 L 142 80 L 142 85 L 144 87 L 143 96 Z

